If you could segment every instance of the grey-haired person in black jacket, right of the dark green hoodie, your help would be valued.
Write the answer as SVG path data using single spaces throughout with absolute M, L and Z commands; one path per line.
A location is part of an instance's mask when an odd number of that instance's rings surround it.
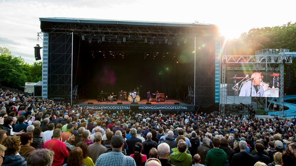
M 254 165 L 254 157 L 246 152 L 247 143 L 246 141 L 240 141 L 240 153 L 234 154 L 231 163 L 240 163 L 241 166 Z M 243 162 L 242 162 L 243 161 Z

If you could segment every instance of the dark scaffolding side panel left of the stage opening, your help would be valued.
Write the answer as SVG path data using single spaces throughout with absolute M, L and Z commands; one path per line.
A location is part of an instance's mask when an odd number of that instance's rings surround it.
M 72 33 L 49 33 L 48 98 L 72 100 Z

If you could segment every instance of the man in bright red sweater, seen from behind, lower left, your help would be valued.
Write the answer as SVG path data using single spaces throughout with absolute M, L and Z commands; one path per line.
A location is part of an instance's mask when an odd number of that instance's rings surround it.
M 54 152 L 52 166 L 60 166 L 64 162 L 64 158 L 69 156 L 67 146 L 61 140 L 62 131 L 60 129 L 53 130 L 53 139 L 46 141 L 43 148 Z

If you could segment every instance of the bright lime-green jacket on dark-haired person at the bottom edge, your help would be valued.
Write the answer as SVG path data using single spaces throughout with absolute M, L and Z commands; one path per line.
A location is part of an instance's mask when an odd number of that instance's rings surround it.
M 183 153 L 179 151 L 173 152 L 171 155 L 169 155 L 169 162 L 175 166 L 191 166 L 192 156 L 186 153 L 187 150 L 188 149 L 186 149 Z

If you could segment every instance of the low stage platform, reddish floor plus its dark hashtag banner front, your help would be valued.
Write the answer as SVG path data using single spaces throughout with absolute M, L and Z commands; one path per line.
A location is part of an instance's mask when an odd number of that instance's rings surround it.
M 195 107 L 192 104 L 186 104 L 180 102 L 179 100 L 169 99 L 167 102 L 151 102 L 151 104 L 146 104 L 146 100 L 136 101 L 135 103 L 130 101 L 113 101 L 111 102 L 98 102 L 96 99 L 86 99 L 81 100 L 77 105 L 86 107 L 87 109 L 92 109 L 98 111 L 110 110 L 110 111 L 159 111 L 162 112 L 179 112 L 179 111 L 194 111 Z M 122 103 L 122 104 L 118 104 Z M 179 104 L 177 104 L 179 103 Z

